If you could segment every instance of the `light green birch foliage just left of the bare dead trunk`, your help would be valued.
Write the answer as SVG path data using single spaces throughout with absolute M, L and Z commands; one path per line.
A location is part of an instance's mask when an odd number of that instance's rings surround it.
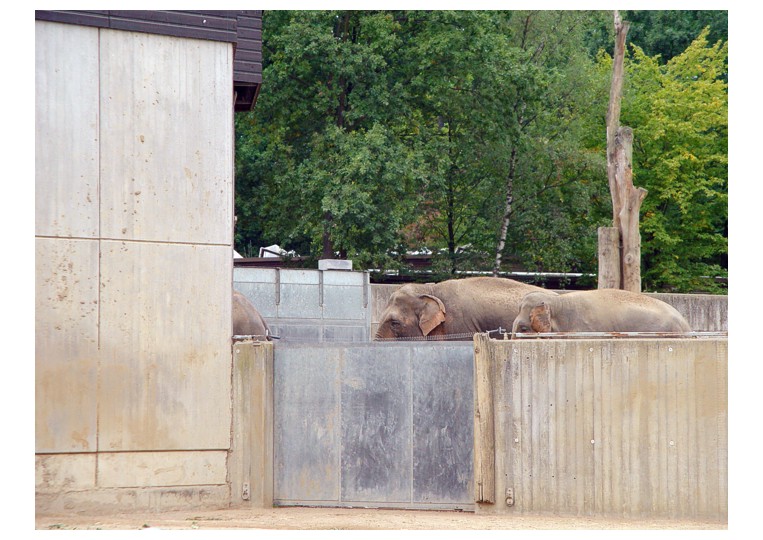
M 512 44 L 539 73 L 514 96 L 500 162 L 504 249 L 537 271 L 596 269 L 596 228 L 606 208 L 606 80 L 588 54 L 602 12 L 514 12 Z M 597 137 L 597 135 L 599 135 Z

